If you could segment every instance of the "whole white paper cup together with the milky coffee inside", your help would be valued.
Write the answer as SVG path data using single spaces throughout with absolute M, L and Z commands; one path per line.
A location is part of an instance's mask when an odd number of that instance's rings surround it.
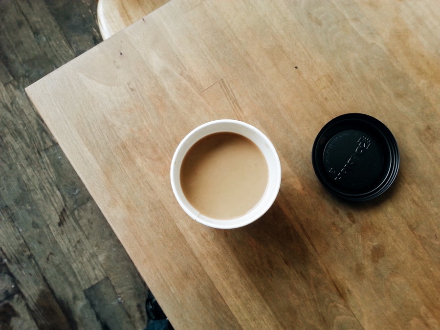
M 232 229 L 261 218 L 281 184 L 281 165 L 270 140 L 238 120 L 205 123 L 186 135 L 171 162 L 171 186 L 192 219 Z

